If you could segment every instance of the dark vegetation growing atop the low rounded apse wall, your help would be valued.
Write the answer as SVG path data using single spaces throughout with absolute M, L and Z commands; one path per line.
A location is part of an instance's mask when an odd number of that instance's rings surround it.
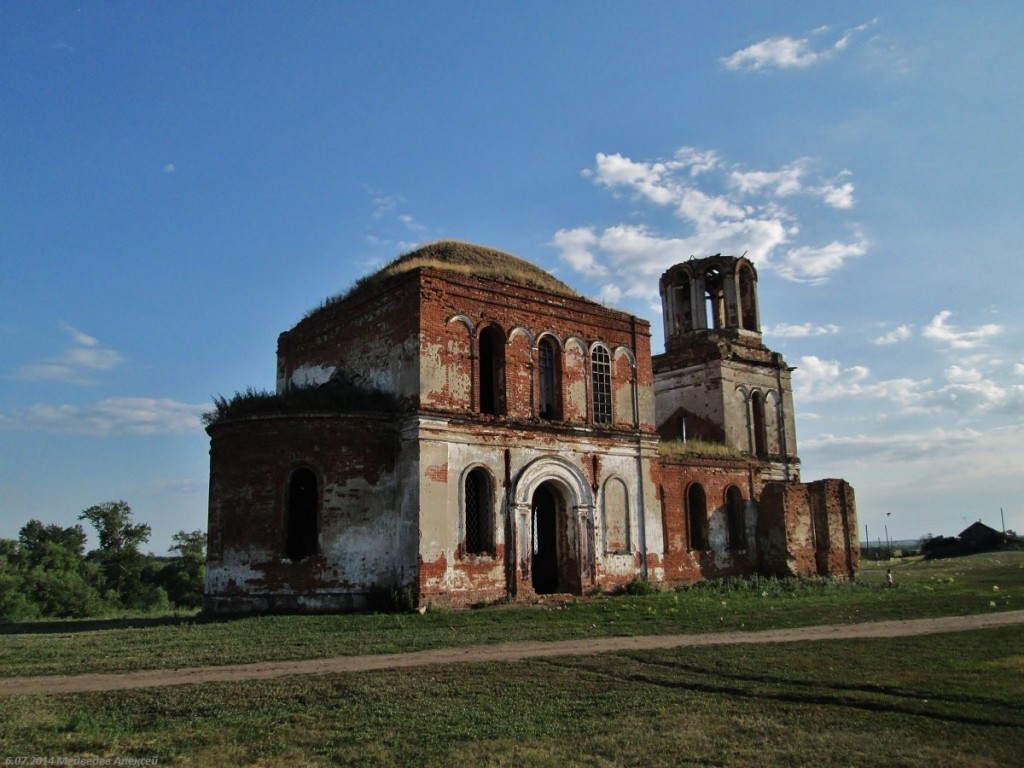
M 294 413 L 395 413 L 400 400 L 390 392 L 359 386 L 345 377 L 337 377 L 327 384 L 308 387 L 290 387 L 283 393 L 249 387 L 236 392 L 230 398 L 218 395 L 213 400 L 213 411 L 203 414 L 207 426 L 226 419 L 265 414 Z

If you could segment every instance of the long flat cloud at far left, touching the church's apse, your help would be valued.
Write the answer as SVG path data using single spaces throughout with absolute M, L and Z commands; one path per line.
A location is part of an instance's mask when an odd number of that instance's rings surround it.
M 97 437 L 194 432 L 202 429 L 200 417 L 210 409 L 210 403 L 152 397 L 109 397 L 90 406 L 40 403 L 0 414 L 0 431 L 70 432 Z

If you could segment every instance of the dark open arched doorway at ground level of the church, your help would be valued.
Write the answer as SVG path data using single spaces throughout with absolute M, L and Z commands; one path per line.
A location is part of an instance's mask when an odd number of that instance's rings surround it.
M 580 564 L 577 537 L 565 501 L 558 486 L 549 481 L 534 492 L 534 551 L 530 558 L 530 582 L 534 592 L 550 595 L 555 592 L 580 592 Z

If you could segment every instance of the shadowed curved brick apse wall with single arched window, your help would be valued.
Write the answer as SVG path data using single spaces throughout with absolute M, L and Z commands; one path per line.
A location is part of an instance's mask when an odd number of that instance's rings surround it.
M 209 432 L 209 608 L 353 607 L 373 586 L 403 586 L 392 585 L 402 571 L 415 580 L 416 542 L 403 541 L 398 524 L 411 510 L 396 508 L 390 420 L 289 414 Z M 298 467 L 316 475 L 322 501 L 317 554 L 293 563 L 284 515 Z

